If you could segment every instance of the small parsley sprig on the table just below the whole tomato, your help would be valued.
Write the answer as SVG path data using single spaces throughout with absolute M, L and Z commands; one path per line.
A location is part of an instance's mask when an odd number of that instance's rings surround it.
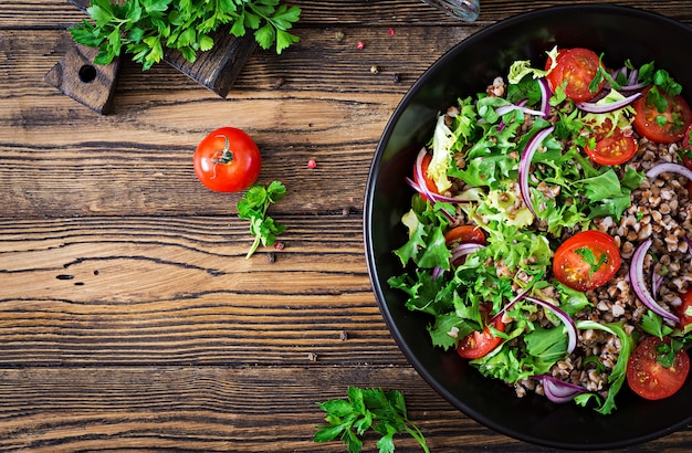
M 238 217 L 250 221 L 250 232 L 254 234 L 254 242 L 248 252 L 247 259 L 262 245 L 273 245 L 276 235 L 286 228 L 266 215 L 270 204 L 281 200 L 286 194 L 286 188 L 279 181 L 272 181 L 266 188 L 252 186 L 235 206 Z

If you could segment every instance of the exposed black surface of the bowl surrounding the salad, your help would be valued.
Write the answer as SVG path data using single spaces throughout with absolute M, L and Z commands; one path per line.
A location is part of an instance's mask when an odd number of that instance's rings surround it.
M 437 115 L 458 97 L 484 91 L 506 76 L 515 60 L 545 61 L 545 51 L 589 48 L 605 63 L 656 61 L 692 101 L 692 28 L 664 17 L 616 6 L 568 6 L 533 11 L 491 25 L 447 52 L 416 82 L 387 124 L 370 168 L 365 200 L 365 243 L 376 299 L 409 362 L 450 403 L 512 438 L 560 449 L 614 449 L 646 442 L 692 422 L 692 379 L 674 397 L 646 401 L 623 388 L 617 409 L 601 415 L 535 394 L 518 399 L 507 386 L 483 378 L 455 352 L 431 346 L 429 319 L 403 306 L 387 278 L 402 272 L 392 250 L 406 242 L 401 215 L 410 208 L 405 182 L 415 156 L 431 136 Z M 692 104 L 692 103 L 691 103 Z M 627 387 L 627 386 L 625 386 Z

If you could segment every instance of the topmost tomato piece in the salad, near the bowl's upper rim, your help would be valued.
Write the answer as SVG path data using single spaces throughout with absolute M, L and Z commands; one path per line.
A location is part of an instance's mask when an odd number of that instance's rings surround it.
M 552 65 L 553 59 L 548 57 L 545 70 L 548 71 Z M 584 102 L 596 96 L 606 83 L 602 80 L 595 91 L 589 88 L 599 66 L 598 55 L 588 49 L 560 49 L 557 51 L 556 66 L 546 75 L 546 80 L 553 92 L 567 82 L 565 95 L 574 102 Z

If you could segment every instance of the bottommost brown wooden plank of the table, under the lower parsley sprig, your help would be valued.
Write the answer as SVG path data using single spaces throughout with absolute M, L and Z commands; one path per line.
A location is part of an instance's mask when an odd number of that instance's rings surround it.
M 0 370 L 0 449 L 31 452 L 338 452 L 312 442 L 348 386 L 397 388 L 431 452 L 554 452 L 460 417 L 412 370 L 378 366 L 99 367 Z M 318 399 L 315 399 L 317 397 Z M 268 414 L 280 411 L 280 417 Z M 375 435 L 365 451 L 377 451 Z M 420 452 L 409 436 L 397 452 Z M 689 451 L 684 432 L 639 452 Z M 271 449 L 271 450 L 270 450 Z

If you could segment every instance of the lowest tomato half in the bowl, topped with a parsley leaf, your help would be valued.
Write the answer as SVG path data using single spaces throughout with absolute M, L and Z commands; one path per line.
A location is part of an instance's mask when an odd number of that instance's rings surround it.
M 670 345 L 670 338 L 665 341 L 658 337 L 646 338 L 627 362 L 627 383 L 635 393 L 648 400 L 674 394 L 690 372 L 690 357 L 684 350 L 675 352 L 671 367 L 659 361 L 659 347 L 663 344 Z

